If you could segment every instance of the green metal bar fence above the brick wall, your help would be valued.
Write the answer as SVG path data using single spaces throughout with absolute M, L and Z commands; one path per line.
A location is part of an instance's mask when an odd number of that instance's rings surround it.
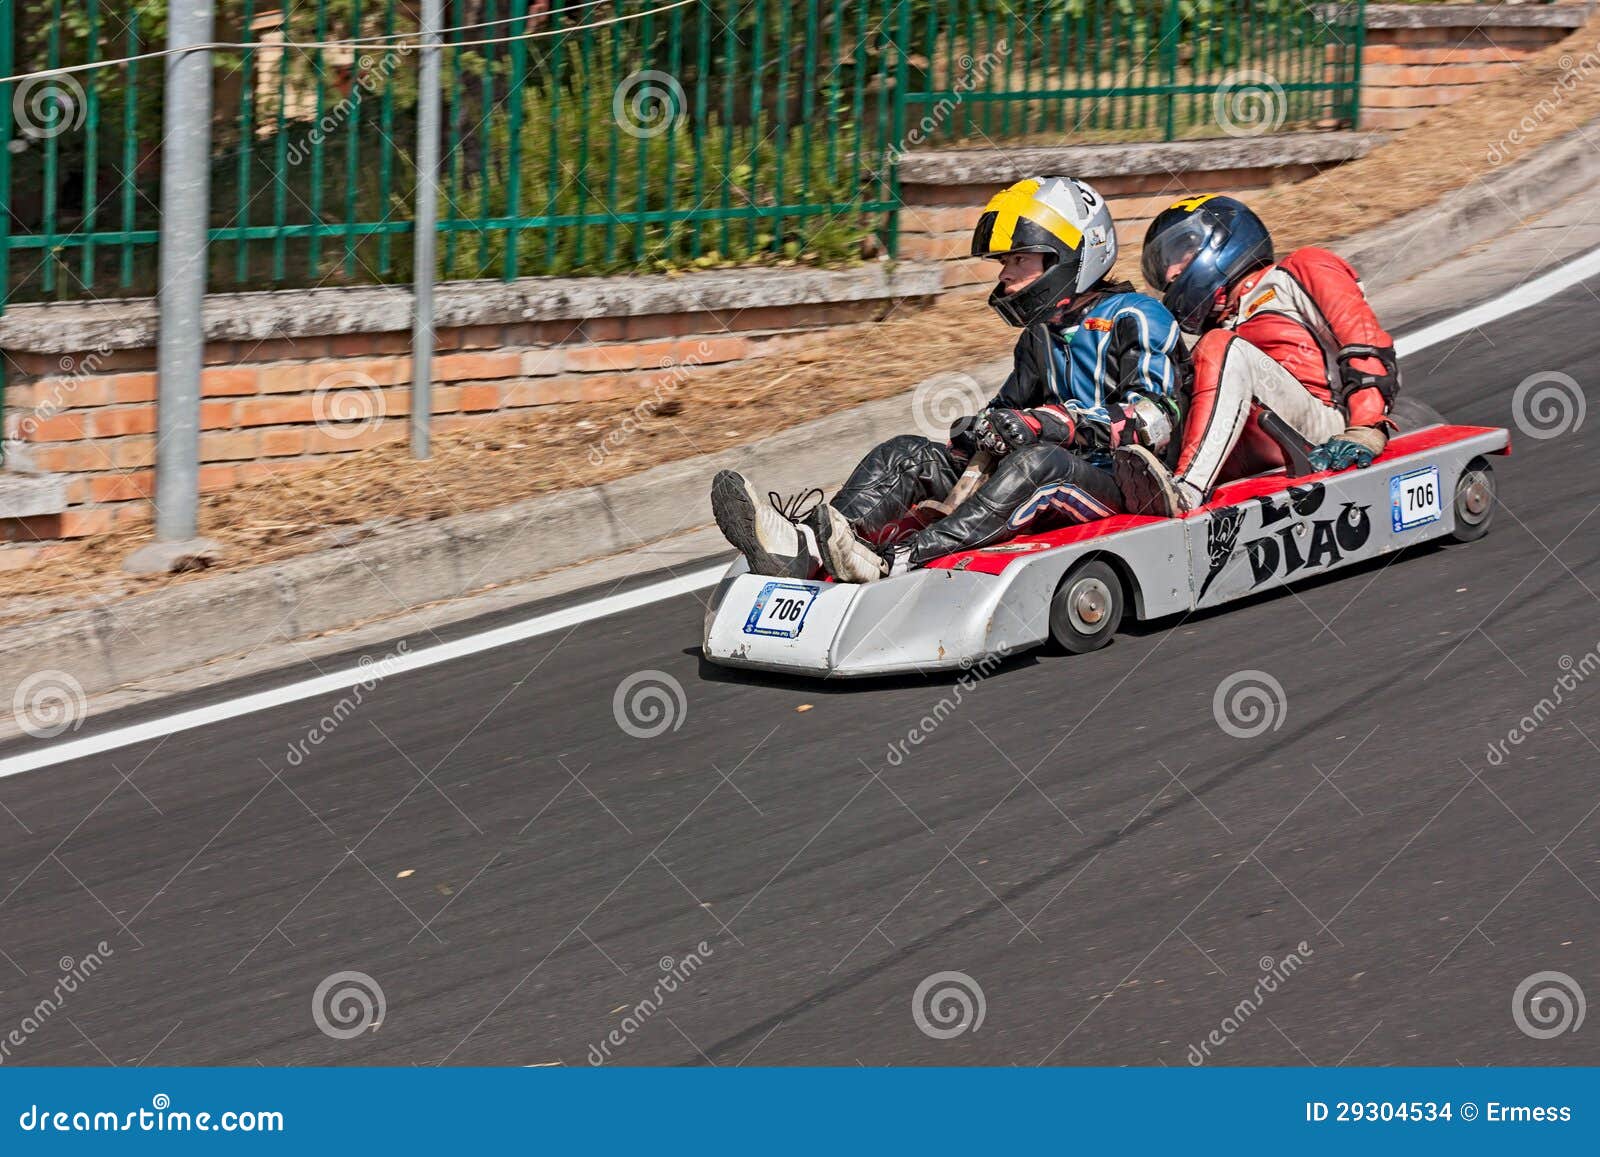
M 838 262 L 893 253 L 907 149 L 1355 120 L 1358 0 L 656 6 L 446 0 L 442 277 Z M 163 22 L 0 0 L 0 75 Z M 214 290 L 410 280 L 416 30 L 402 0 L 219 0 Z M 162 62 L 0 90 L 0 306 L 150 293 Z

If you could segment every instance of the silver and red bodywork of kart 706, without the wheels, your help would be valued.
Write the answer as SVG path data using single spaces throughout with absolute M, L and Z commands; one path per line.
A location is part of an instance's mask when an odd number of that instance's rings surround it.
M 1461 435 L 1411 453 L 1397 440 L 1360 470 L 1293 482 L 1246 478 L 1224 491 L 1226 504 L 1187 518 L 1125 518 L 1134 525 L 1066 546 L 1034 536 L 976 552 L 1008 555 L 998 573 L 963 570 L 958 562 L 957 568 L 856 586 L 750 574 L 741 558 L 712 592 L 704 655 L 733 667 L 821 677 L 970 667 L 1046 642 L 1051 597 L 1088 557 L 1110 562 L 1122 574 L 1128 615 L 1139 619 L 1214 607 L 1365 562 L 1450 534 L 1462 470 L 1475 458 L 1507 453 L 1502 429 L 1442 429 Z M 1418 430 L 1406 440 L 1427 434 Z M 1435 469 L 1442 509 L 1422 525 L 1402 525 L 1397 486 L 1427 480 Z M 803 619 L 784 626 L 795 634 L 758 629 L 760 608 L 786 595 L 806 603 Z

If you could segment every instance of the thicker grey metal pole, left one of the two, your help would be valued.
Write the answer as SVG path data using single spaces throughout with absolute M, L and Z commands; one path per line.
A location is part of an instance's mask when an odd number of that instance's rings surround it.
M 210 43 L 213 0 L 171 0 L 170 50 Z M 192 539 L 200 501 L 200 368 L 205 362 L 211 192 L 211 53 L 166 58 L 162 112 L 162 256 L 157 342 L 155 538 Z

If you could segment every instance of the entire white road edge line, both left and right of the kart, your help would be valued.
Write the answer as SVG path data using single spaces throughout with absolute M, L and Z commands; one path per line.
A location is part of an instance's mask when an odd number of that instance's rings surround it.
M 1395 341 L 1395 352 L 1402 357 L 1406 354 L 1416 354 L 1418 350 L 1437 346 L 1442 341 L 1448 341 L 1450 338 L 1485 325 L 1486 322 L 1499 320 L 1528 309 L 1530 306 L 1536 306 L 1541 301 L 1547 301 L 1557 293 L 1570 290 L 1579 282 L 1586 282 L 1595 275 L 1600 275 L 1600 250 L 1574 258 L 1565 266 L 1552 269 L 1549 274 L 1536 277 L 1526 285 L 1522 285 L 1510 293 L 1504 293 L 1493 301 L 1466 309 L 1443 318 L 1442 322 L 1424 326 L 1416 333 L 1408 333 Z M 568 607 L 566 610 L 538 615 L 531 619 L 525 619 L 523 623 L 512 623 L 510 626 L 467 635 L 466 639 L 458 639 L 453 643 L 426 647 L 421 651 L 390 658 L 386 663 L 386 667 L 389 671 L 389 677 L 402 675 L 410 671 L 421 671 L 422 667 L 450 663 L 451 659 L 459 659 L 467 655 L 490 651 L 496 647 L 520 643 L 525 639 L 547 635 L 552 631 L 565 631 L 566 627 L 579 626 L 582 623 L 592 623 L 594 619 L 600 619 L 608 615 L 619 615 L 640 607 L 650 607 L 651 603 L 659 603 L 666 599 L 677 599 L 678 595 L 686 595 L 694 591 L 704 591 L 709 586 L 715 586 L 723 570 L 726 568 L 720 565 L 706 566 L 702 570 L 691 571 L 683 578 L 651 583 L 626 594 L 594 599 L 587 603 Z M 0 759 L 0 779 L 21 775 L 24 771 L 34 771 L 35 768 L 54 767 L 56 763 L 66 763 L 67 760 L 83 759 L 86 755 L 99 755 L 101 752 L 115 751 L 117 747 L 126 747 L 134 743 L 144 743 L 146 739 L 158 739 L 163 735 L 173 735 L 174 731 L 189 731 L 197 727 L 221 723 L 224 720 L 238 719 L 240 715 L 250 715 L 258 711 L 269 711 L 270 707 L 280 707 L 285 703 L 299 703 L 301 699 L 328 695 L 330 691 L 344 691 L 357 687 L 358 683 L 366 683 L 371 677 L 373 672 L 370 667 L 346 667 L 344 671 L 317 675 L 314 679 L 278 687 L 270 691 L 242 695 L 237 699 L 224 699 L 222 703 L 214 703 L 208 707 L 194 707 L 192 711 L 162 715 L 146 723 L 131 723 L 128 727 L 102 731 L 101 735 L 69 739 L 66 743 L 40 747 L 21 755 L 11 755 L 10 759 Z

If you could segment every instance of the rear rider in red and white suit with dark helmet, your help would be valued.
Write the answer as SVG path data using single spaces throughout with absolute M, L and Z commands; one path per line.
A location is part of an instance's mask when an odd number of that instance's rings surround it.
M 1144 280 L 1189 333 L 1194 390 L 1176 466 L 1142 446 L 1117 450 L 1123 504 L 1181 515 L 1224 477 L 1283 464 L 1259 427 L 1270 408 L 1315 450 L 1312 466 L 1370 466 L 1389 442 L 1400 390 L 1394 339 L 1366 304 L 1355 270 L 1328 250 L 1274 262 L 1267 227 L 1232 197 L 1189 197 L 1144 235 Z

